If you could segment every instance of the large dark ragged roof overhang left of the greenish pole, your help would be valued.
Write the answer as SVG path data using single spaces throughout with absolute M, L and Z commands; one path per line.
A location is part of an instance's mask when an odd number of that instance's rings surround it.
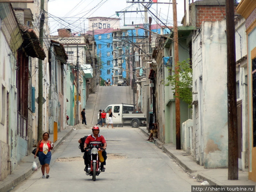
M 25 27 L 20 25 L 20 33 L 22 34 L 23 38 L 22 47 L 25 49 L 27 55 L 44 60 L 46 54 L 39 43 L 39 39 L 35 34 L 35 31 L 30 28 L 26 29 Z

